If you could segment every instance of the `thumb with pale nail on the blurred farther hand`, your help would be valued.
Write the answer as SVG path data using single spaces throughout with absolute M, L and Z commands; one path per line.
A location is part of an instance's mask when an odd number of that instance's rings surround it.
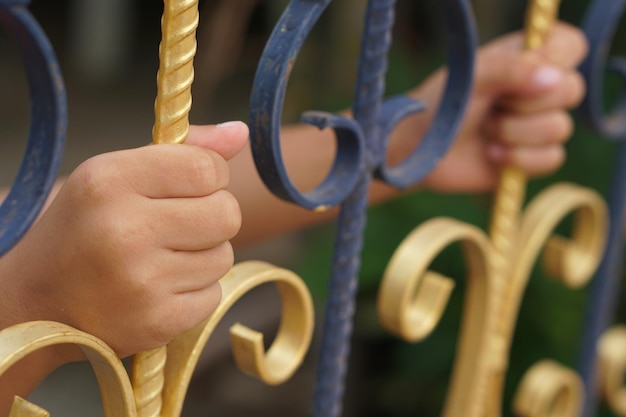
M 478 55 L 475 85 L 494 96 L 532 97 L 556 88 L 565 71 L 532 51 L 486 49 Z

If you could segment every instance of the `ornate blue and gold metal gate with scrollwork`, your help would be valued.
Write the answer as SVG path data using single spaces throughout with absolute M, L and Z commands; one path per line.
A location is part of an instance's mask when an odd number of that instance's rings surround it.
M 45 34 L 28 11 L 29 3 L 0 0 L 0 23 L 21 51 L 34 103 L 24 161 L 9 196 L 0 206 L 0 254 L 12 248 L 41 210 L 56 176 L 66 130 L 67 108 L 59 65 Z M 309 210 L 340 207 L 312 399 L 316 417 L 342 414 L 369 185 L 384 181 L 398 188 L 410 187 L 435 168 L 462 120 L 472 86 L 477 44 L 470 3 L 442 0 L 448 35 L 445 92 L 420 146 L 404 161 L 388 166 L 385 149 L 390 132 L 428 103 L 405 96 L 385 98 L 395 1 L 369 0 L 356 69 L 353 117 L 317 111 L 302 116 L 304 123 L 332 128 L 337 144 L 326 179 L 317 188 L 303 192 L 289 177 L 282 160 L 281 114 L 293 63 L 330 3 L 289 3 L 258 64 L 249 121 L 258 171 L 274 194 Z M 527 48 L 541 45 L 557 18 L 558 3 L 531 2 Z M 187 134 L 197 7 L 194 0 L 165 1 L 162 25 L 168 29 L 161 44 L 155 143 L 181 143 Z M 580 114 L 598 135 L 612 140 L 626 137 L 626 102 L 621 97 L 613 110 L 605 111 L 603 77 L 607 70 L 626 75 L 624 58 L 608 56 L 608 46 L 625 7 L 624 0 L 590 1 L 583 25 L 591 51 L 582 67 L 589 91 Z M 501 412 L 519 305 L 542 251 L 550 272 L 566 286 L 580 287 L 594 274 L 595 278 L 590 284 L 578 369 L 551 360 L 534 365 L 515 396 L 516 412 L 525 416 L 591 416 L 595 415 L 601 393 L 616 415 L 626 415 L 622 391 L 626 329 L 610 327 L 623 264 L 626 148 L 621 145 L 620 149 L 608 197 L 610 219 L 597 193 L 570 183 L 549 187 L 524 207 L 526 178 L 508 168 L 496 193 L 488 233 L 455 219 L 436 218 L 398 242 L 381 281 L 378 314 L 384 327 L 409 342 L 428 337 L 453 287 L 453 280 L 429 271 L 432 260 L 453 243 L 463 247 L 467 266 L 465 310 L 458 354 L 450 359 L 454 370 L 444 415 L 482 417 Z M 557 225 L 572 214 L 571 237 L 553 236 Z M 607 221 L 611 227 L 607 227 Z M 243 325 L 231 329 L 231 340 L 235 360 L 244 372 L 269 384 L 283 383 L 297 371 L 311 343 L 313 301 L 297 275 L 262 261 L 236 265 L 221 282 L 224 298 L 218 311 L 166 348 L 137 355 L 132 376 L 103 342 L 60 323 L 25 323 L 0 332 L 0 374 L 42 347 L 74 343 L 88 352 L 101 386 L 105 415 L 179 415 L 200 351 L 217 323 L 235 301 L 268 282 L 277 285 L 282 298 L 281 324 L 270 348 L 265 351 L 262 335 Z M 16 399 L 13 412 L 15 416 L 45 415 L 22 399 Z

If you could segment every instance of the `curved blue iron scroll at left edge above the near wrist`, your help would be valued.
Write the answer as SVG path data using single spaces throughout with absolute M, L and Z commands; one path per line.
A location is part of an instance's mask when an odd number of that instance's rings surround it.
M 0 206 L 0 256 L 41 211 L 57 176 L 67 130 L 67 102 L 59 64 L 28 0 L 0 0 L 0 25 L 19 48 L 28 78 L 31 123 L 24 159 Z

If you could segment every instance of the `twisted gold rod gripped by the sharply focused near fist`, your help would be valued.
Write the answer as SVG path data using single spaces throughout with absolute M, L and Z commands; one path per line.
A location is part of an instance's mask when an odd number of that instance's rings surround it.
M 196 54 L 198 0 L 164 0 L 152 141 L 183 143 L 189 133 Z M 139 417 L 158 417 L 163 407 L 167 348 L 133 358 L 132 384 Z

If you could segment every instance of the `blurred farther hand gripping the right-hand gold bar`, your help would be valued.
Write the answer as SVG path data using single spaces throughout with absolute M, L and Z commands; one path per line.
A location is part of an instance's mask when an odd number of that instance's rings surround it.
M 529 175 L 556 170 L 573 131 L 567 110 L 577 106 L 585 86 L 576 68 L 587 53 L 582 32 L 556 25 L 546 44 L 523 52 L 521 34 L 481 48 L 465 120 L 450 152 L 425 185 L 440 191 L 484 191 L 494 187 L 503 165 Z M 414 95 L 432 102 L 440 95 L 440 71 Z

